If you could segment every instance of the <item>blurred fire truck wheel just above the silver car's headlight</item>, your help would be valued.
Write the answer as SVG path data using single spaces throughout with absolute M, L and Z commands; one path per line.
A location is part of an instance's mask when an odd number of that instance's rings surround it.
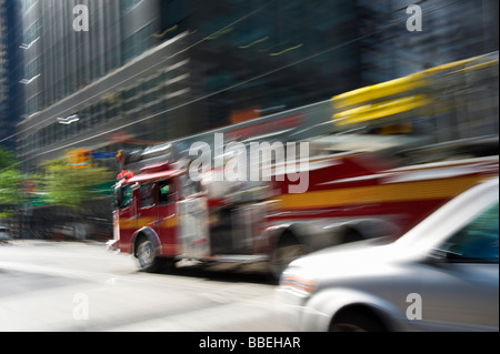
M 308 246 L 298 241 L 292 233 L 283 233 L 272 252 L 270 264 L 272 275 L 279 279 L 291 261 L 308 253 Z

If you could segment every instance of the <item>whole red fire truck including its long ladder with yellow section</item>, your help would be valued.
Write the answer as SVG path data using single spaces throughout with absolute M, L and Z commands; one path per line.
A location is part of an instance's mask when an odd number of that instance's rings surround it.
M 463 72 L 462 65 L 449 64 L 442 70 L 458 68 Z M 498 59 L 496 65 L 498 75 Z M 434 69 L 423 77 L 429 80 L 429 74 L 436 72 L 441 73 Z M 177 153 L 176 145 L 207 140 L 214 132 L 121 153 L 123 172 L 116 185 L 111 246 L 133 254 L 144 271 L 172 266 L 179 260 L 196 260 L 261 263 L 278 275 L 292 259 L 311 251 L 402 235 L 451 198 L 498 175 L 498 119 L 496 139 L 473 136 L 424 144 L 418 136 L 380 133 L 388 122 L 391 132 L 408 129 L 408 124 L 394 128 L 394 122 L 407 122 L 409 111 L 416 114 L 416 109 L 428 109 L 429 97 L 401 97 L 401 85 L 406 90 L 428 88 L 427 83 L 414 83 L 421 78 L 413 75 L 411 81 L 399 80 L 372 88 L 374 91 L 364 89 L 333 99 L 346 109 L 336 110 L 329 119 L 352 120 L 354 125 L 363 122 L 370 125 L 368 129 L 317 136 L 316 128 L 324 124 L 314 121 L 307 129 L 299 124 L 311 112 L 318 113 L 318 107 L 308 107 L 219 131 L 230 132 L 231 140 L 249 139 L 258 132 L 262 135 L 254 139 L 260 142 L 283 136 L 269 138 L 272 134 L 264 127 L 287 134 L 289 141 L 299 136 L 290 132 L 294 124 L 301 132 L 314 132 L 308 139 L 301 138 L 309 143 L 309 159 L 291 161 L 297 171 L 307 173 L 303 193 L 290 192 L 297 179 L 290 179 L 288 165 L 277 161 L 269 165 L 272 172 L 268 181 L 217 181 L 217 169 L 209 170 L 206 178 L 192 179 L 194 159 Z M 391 94 L 397 98 L 391 100 Z M 381 99 L 384 103 L 380 103 Z M 376 103 L 367 108 L 369 100 Z M 322 108 L 319 111 L 324 112 Z M 398 114 L 403 120 L 398 120 Z M 389 119 L 384 122 L 384 118 Z M 277 132 L 282 127 L 276 124 L 279 120 L 288 122 L 284 133 Z M 274 123 L 264 124 L 268 121 Z M 248 134 L 249 130 L 252 134 Z M 438 158 L 433 161 L 431 156 Z M 302 164 L 306 168 L 301 169 Z M 259 169 L 248 166 L 252 168 Z

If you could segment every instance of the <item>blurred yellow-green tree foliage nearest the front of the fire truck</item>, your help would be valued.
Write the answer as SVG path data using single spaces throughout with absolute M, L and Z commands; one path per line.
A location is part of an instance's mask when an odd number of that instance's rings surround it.
M 63 160 L 54 160 L 44 165 L 40 184 L 46 203 L 78 210 L 82 202 L 102 196 L 96 185 L 111 178 L 106 168 L 73 169 Z

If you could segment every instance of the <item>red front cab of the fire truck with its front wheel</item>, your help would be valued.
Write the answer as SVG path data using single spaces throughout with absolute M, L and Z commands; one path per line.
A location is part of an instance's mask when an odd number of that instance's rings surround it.
M 178 257 L 210 256 L 208 199 L 186 169 L 171 163 L 143 168 L 117 183 L 116 196 L 114 237 L 142 270 L 171 266 Z

